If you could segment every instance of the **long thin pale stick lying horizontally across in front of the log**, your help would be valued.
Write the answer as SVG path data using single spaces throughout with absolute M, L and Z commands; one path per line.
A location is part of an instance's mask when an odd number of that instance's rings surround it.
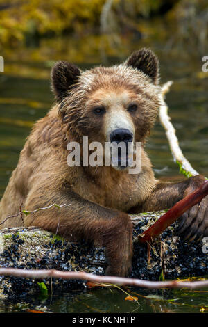
M 198 289 L 201 287 L 208 287 L 208 280 L 200 280 L 196 282 L 182 282 L 180 280 L 172 280 L 170 282 L 153 282 L 149 280 L 139 280 L 136 278 L 124 278 L 114 276 L 96 276 L 91 273 L 83 271 L 58 271 L 55 269 L 40 269 L 40 270 L 27 270 L 18 268 L 0 268 L 0 276 L 15 276 L 21 278 L 62 278 L 64 280 L 78 279 L 88 280 L 90 282 L 110 283 L 114 285 L 132 285 L 137 287 L 146 287 L 148 289 Z

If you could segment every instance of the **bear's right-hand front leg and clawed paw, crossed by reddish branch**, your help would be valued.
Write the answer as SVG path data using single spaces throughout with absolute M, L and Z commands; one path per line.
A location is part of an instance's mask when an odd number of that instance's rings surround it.
M 178 183 L 159 182 L 140 210 L 148 212 L 171 208 L 204 182 L 205 177 L 202 175 Z M 202 237 L 208 236 L 208 196 L 185 212 L 178 222 L 175 232 L 184 240 L 199 241 Z

